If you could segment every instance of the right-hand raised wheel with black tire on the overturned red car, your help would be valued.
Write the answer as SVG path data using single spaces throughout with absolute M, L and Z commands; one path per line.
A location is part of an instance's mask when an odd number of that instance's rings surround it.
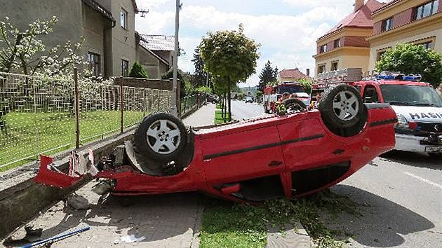
M 321 117 L 331 128 L 350 128 L 363 117 L 363 102 L 358 90 L 342 83 L 328 88 L 319 100 Z

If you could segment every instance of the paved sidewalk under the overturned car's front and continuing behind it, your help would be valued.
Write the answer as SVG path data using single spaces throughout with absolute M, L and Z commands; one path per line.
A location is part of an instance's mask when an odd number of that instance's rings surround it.
M 211 125 L 215 118 L 215 104 L 201 107 L 185 118 L 185 125 Z M 36 216 L 28 223 L 34 228 L 43 228 L 43 239 L 76 228 L 89 225 L 90 230 L 65 240 L 55 242 L 51 247 L 199 247 L 194 233 L 201 226 L 203 207 L 199 205 L 199 193 L 174 193 L 130 197 L 130 205 L 123 207 L 119 198 L 105 200 L 91 191 L 96 181 L 91 181 L 76 193 L 88 199 L 90 208 L 74 210 L 65 202 Z M 126 243 L 121 237 L 145 236 L 141 242 Z M 13 240 L 25 237 L 20 228 L 12 235 Z M 11 245 L 20 246 L 23 242 Z M 8 244 L 9 245 L 9 244 Z

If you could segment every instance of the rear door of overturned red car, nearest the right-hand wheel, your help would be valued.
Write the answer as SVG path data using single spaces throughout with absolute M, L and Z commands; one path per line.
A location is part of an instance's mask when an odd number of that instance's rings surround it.
M 333 139 L 314 114 L 309 113 L 314 118 L 293 116 L 292 121 L 278 125 L 291 195 L 317 191 L 349 170 L 353 151 Z

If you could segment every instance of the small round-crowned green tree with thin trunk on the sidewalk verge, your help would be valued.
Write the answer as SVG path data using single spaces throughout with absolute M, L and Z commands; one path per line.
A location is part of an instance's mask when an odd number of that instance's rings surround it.
M 227 95 L 229 120 L 232 119 L 230 92 L 236 83 L 246 81 L 250 75 L 255 73 L 256 60 L 259 58 L 257 53 L 259 46 L 243 34 L 241 24 L 238 32 L 227 30 L 209 32 L 199 44 L 204 70 L 222 78 L 217 83 L 225 86 L 218 88 L 225 90 Z

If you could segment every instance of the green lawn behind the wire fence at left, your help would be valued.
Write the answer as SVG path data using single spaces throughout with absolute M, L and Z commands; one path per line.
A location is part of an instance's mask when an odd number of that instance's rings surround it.
M 120 116 L 120 111 L 81 113 L 81 144 L 119 132 Z M 126 111 L 123 125 L 134 125 L 142 117 L 142 112 Z M 0 172 L 36 160 L 39 153 L 51 155 L 75 146 L 75 117 L 70 112 L 10 112 L 2 120 L 6 130 L 0 130 L 0 165 L 27 159 L 0 167 Z

